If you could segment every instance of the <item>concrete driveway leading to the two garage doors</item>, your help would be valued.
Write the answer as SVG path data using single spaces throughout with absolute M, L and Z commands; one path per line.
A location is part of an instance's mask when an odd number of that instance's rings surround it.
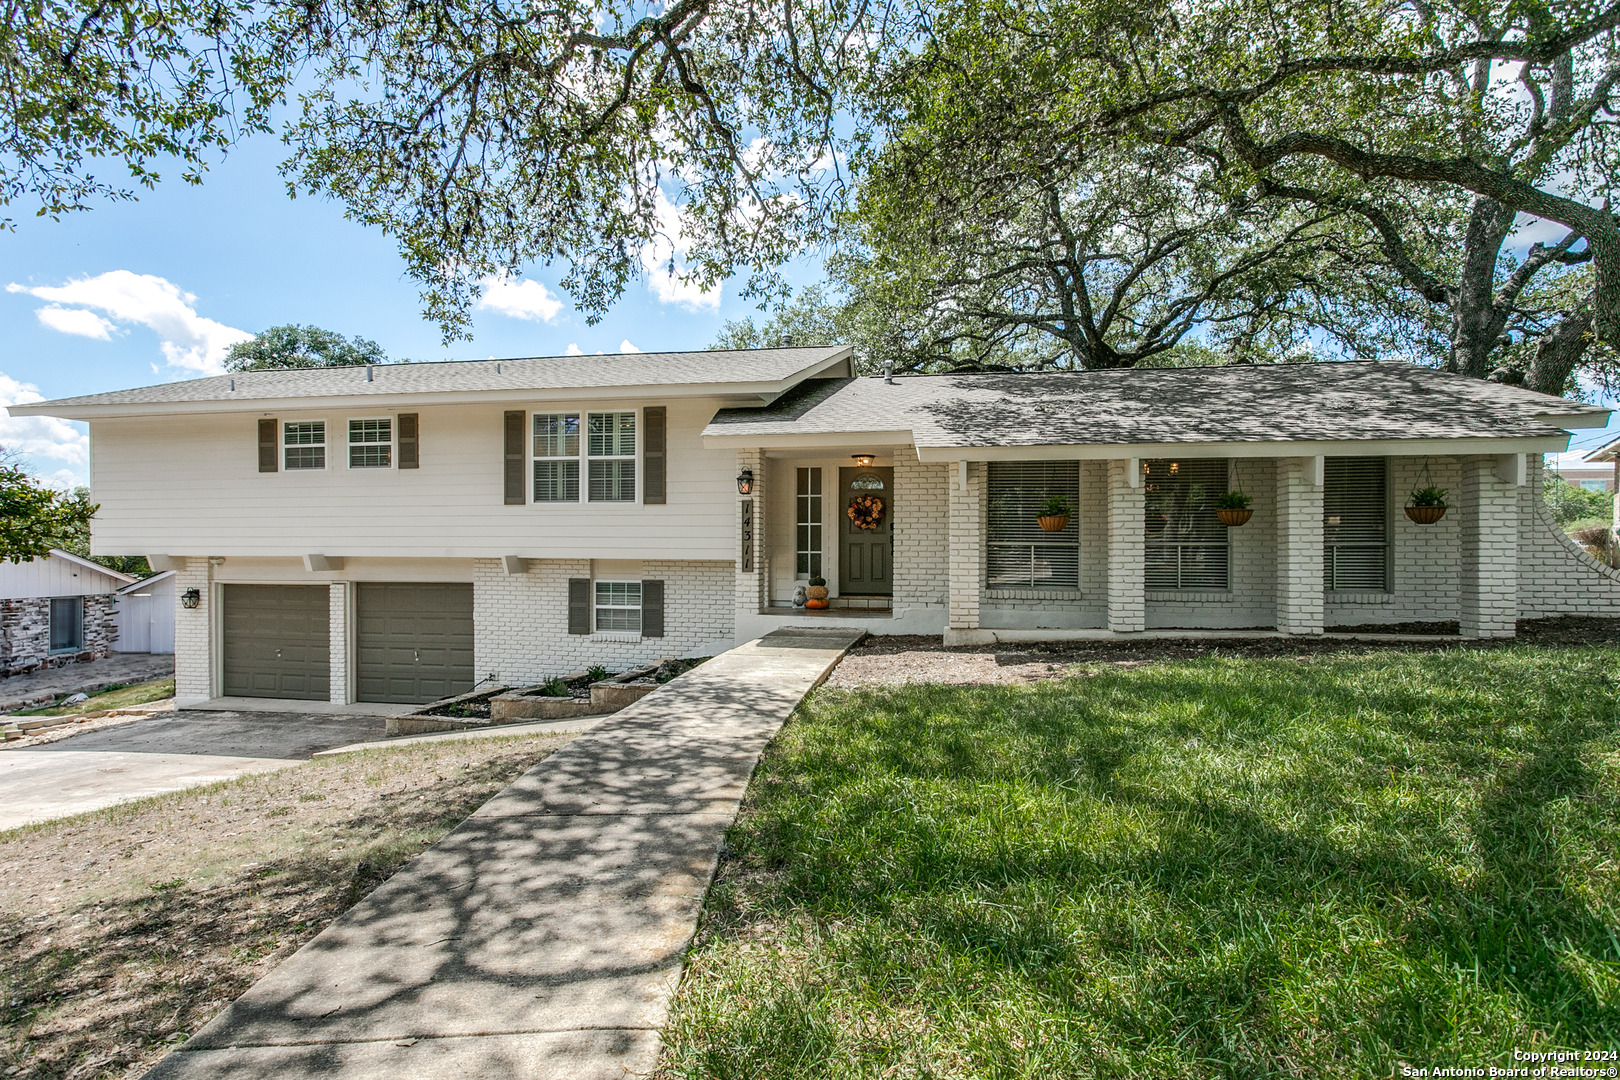
M 180 711 L 28 750 L 0 750 L 0 829 L 246 772 L 382 738 L 379 716 Z

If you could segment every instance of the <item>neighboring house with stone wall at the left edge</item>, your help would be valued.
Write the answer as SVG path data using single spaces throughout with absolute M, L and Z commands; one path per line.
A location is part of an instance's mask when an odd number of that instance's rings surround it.
M 117 593 L 131 581 L 62 549 L 0 562 L 0 677 L 107 656 L 118 638 Z

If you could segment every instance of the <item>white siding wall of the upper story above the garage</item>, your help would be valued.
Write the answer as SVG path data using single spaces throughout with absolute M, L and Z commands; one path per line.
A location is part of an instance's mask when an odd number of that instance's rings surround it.
M 256 413 L 96 421 L 92 542 L 105 554 L 731 559 L 735 457 L 700 440 L 721 402 L 664 405 L 669 502 L 656 507 L 504 505 L 502 405 L 402 405 L 421 418 L 418 470 L 345 468 L 342 410 L 275 413 L 327 421 L 327 468 L 292 473 L 258 471 Z

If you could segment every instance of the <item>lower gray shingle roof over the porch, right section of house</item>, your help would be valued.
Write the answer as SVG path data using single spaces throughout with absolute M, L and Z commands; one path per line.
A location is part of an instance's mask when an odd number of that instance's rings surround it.
M 917 447 L 1560 436 L 1609 410 L 1408 363 L 818 379 L 705 436 L 912 432 Z

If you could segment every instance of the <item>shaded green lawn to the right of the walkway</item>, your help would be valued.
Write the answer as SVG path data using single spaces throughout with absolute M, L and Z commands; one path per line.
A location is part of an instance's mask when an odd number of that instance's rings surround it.
M 1615 661 L 818 691 L 732 829 L 661 1075 L 1388 1077 L 1620 1046 Z

